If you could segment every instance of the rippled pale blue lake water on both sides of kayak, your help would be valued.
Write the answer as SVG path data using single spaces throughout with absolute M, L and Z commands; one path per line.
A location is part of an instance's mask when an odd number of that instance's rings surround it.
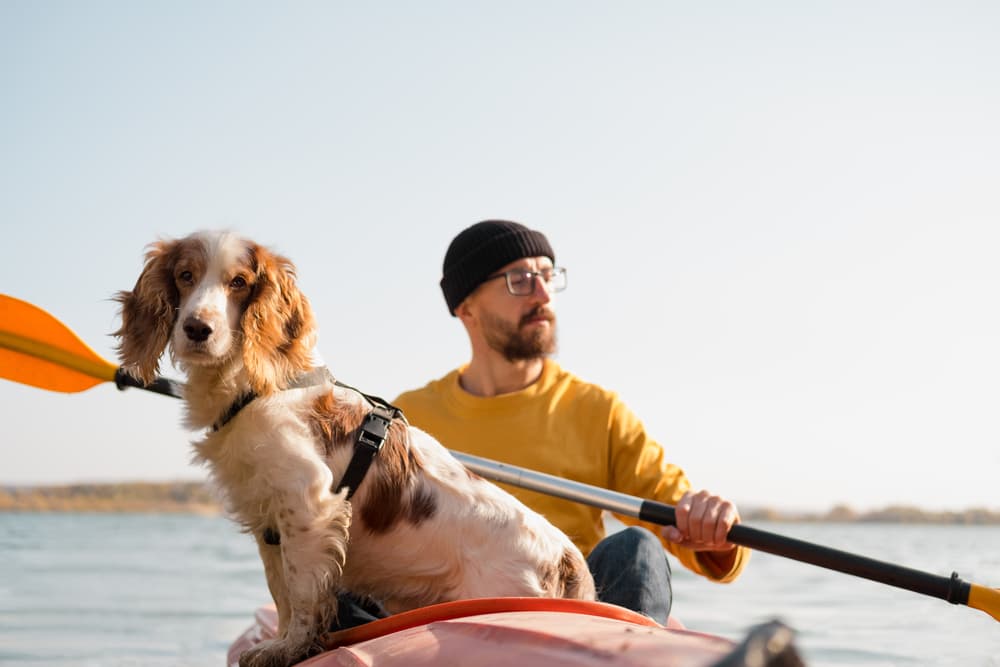
M 753 525 L 1000 586 L 996 527 Z M 253 540 L 222 518 L 0 513 L 0 665 L 222 667 L 267 601 Z M 814 667 L 1000 667 L 981 611 L 763 553 L 725 586 L 675 567 L 674 613 L 731 639 L 780 618 Z

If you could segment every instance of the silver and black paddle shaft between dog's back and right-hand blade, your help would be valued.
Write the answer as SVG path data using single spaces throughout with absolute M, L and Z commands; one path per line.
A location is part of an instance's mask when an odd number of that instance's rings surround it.
M 674 508 L 664 503 L 636 498 L 617 491 L 609 491 L 462 452 L 452 451 L 451 453 L 473 472 L 497 482 L 583 503 L 660 526 L 673 526 L 677 523 Z M 952 604 L 967 604 L 969 600 L 971 586 L 962 581 L 957 574 L 953 574 L 950 578 L 942 577 L 804 540 L 769 533 L 743 524 L 733 526 L 727 539 L 733 544 L 817 565 L 828 570 L 863 577 L 897 588 L 904 588 L 915 593 L 930 595 L 947 600 Z

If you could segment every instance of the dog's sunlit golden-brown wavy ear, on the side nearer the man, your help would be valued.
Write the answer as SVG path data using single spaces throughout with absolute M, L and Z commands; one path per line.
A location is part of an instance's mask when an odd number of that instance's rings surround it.
M 257 394 L 287 387 L 312 365 L 316 323 L 295 284 L 295 266 L 253 245 L 255 282 L 243 313 L 243 365 Z

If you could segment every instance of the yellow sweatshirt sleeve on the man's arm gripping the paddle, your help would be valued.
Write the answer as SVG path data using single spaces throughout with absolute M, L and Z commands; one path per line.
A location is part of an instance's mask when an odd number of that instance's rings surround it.
M 617 397 L 610 413 L 610 420 L 608 460 L 611 488 L 639 498 L 676 505 L 681 496 L 691 488 L 684 471 L 666 460 L 663 447 L 649 437 L 639 418 Z M 657 537 L 660 536 L 661 526 L 634 517 L 620 515 L 616 517 L 622 523 L 643 526 Z M 695 552 L 679 547 L 662 537 L 660 541 L 684 567 L 708 579 L 723 583 L 736 579 L 746 566 L 750 555 L 749 549 L 737 547 L 732 566 L 722 568 L 712 559 L 710 552 Z

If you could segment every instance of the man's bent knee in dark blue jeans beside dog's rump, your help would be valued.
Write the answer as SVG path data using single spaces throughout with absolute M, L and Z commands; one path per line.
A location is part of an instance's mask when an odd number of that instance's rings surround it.
M 665 625 L 670 615 L 670 563 L 655 535 L 630 526 L 597 543 L 587 556 L 597 599 Z

